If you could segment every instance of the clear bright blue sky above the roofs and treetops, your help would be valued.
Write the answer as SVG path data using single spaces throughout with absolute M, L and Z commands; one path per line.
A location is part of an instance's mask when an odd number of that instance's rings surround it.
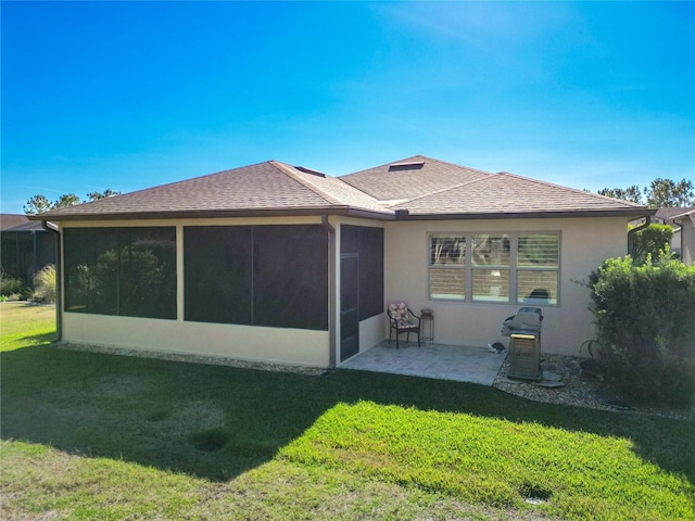
M 695 180 L 693 2 L 8 2 L 1 206 L 424 154 Z

